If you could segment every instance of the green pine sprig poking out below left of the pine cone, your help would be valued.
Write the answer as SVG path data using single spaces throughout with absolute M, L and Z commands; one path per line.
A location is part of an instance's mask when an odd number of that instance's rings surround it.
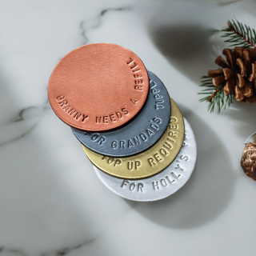
M 201 78 L 200 86 L 206 87 L 206 89 L 202 90 L 201 93 L 198 94 L 204 94 L 207 96 L 201 98 L 199 101 L 209 102 L 208 111 L 210 111 L 210 113 L 214 112 L 215 106 L 217 106 L 219 113 L 221 110 L 226 110 L 226 106 L 230 106 L 230 104 L 234 102 L 234 94 L 226 95 L 222 86 L 214 86 L 212 78 L 203 76 Z

